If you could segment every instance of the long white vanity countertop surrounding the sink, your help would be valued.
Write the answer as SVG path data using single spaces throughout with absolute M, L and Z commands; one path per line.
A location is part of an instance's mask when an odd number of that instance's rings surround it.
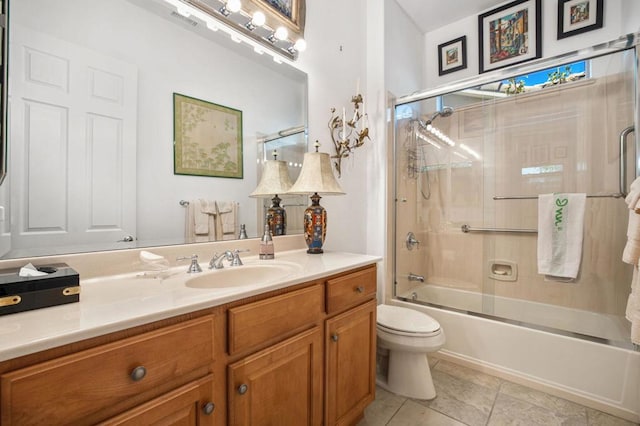
M 275 260 L 243 257 L 247 271 L 251 265 L 284 265 L 286 275 L 271 281 L 225 288 L 190 288 L 186 280 L 210 271 L 187 274 L 187 265 L 173 267 L 164 279 L 128 274 L 91 278 L 80 277 L 80 302 L 0 316 L 0 361 L 16 358 L 124 330 L 138 325 L 186 314 L 272 290 L 300 284 L 349 269 L 369 265 L 380 257 L 363 254 L 306 250 L 276 253 Z M 229 268 L 229 267 L 225 267 Z M 234 268 L 243 268 L 242 266 Z

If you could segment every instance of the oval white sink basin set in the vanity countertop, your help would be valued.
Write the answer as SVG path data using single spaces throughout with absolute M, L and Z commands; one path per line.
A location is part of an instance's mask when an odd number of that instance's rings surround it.
M 295 263 L 264 263 L 225 267 L 194 275 L 185 282 L 190 288 L 228 288 L 269 284 L 301 271 Z

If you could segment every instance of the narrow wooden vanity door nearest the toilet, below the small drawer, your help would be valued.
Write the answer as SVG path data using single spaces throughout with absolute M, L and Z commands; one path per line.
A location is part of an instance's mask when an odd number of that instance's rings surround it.
M 328 425 L 350 425 L 375 399 L 376 301 L 327 320 Z

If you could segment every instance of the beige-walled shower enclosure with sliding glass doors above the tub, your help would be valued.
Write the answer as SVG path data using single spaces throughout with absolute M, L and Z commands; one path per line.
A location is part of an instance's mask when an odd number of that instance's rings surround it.
M 633 349 L 636 40 L 396 101 L 394 298 Z M 537 272 L 545 193 L 587 194 L 575 279 Z

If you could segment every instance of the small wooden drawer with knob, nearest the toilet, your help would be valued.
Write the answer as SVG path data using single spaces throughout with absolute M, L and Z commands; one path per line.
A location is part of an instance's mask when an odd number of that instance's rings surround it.
M 327 280 L 327 312 L 334 314 L 375 297 L 376 266 Z

